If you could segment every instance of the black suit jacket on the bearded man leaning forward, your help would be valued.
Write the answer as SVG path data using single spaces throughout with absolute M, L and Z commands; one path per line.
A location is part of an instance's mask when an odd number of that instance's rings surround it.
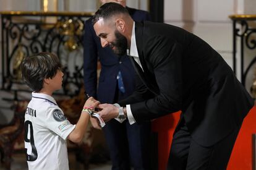
M 224 59 L 198 36 L 164 23 L 136 22 L 135 36 L 144 85 L 119 104 L 131 104 L 142 122 L 182 111 L 200 145 L 211 146 L 230 134 L 254 100 Z

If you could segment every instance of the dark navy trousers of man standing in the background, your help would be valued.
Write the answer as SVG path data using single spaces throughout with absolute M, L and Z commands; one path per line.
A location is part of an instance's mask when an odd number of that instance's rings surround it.
M 124 94 L 116 89 L 115 101 L 125 98 Z M 134 170 L 148 170 L 150 168 L 150 137 L 151 123 L 129 124 L 112 119 L 103 128 L 113 170 L 126 170 L 131 166 Z

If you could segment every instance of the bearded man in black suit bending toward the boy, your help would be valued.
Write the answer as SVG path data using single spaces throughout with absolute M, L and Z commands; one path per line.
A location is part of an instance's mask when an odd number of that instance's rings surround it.
M 101 6 L 93 24 L 103 47 L 129 52 L 143 82 L 123 108 L 100 104 L 100 116 L 132 124 L 181 110 L 167 169 L 226 169 L 254 101 L 220 54 L 182 28 L 134 22 L 118 4 Z

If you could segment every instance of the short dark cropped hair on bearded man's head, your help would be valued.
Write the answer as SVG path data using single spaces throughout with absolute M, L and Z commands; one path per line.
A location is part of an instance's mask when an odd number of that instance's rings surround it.
M 101 6 L 98 9 L 98 11 L 95 12 L 95 15 L 93 15 L 92 23 L 94 25 L 98 20 L 100 20 L 100 18 L 109 19 L 110 17 L 116 14 L 129 15 L 129 12 L 125 7 L 121 6 L 120 4 L 117 4 L 116 2 L 109 2 L 103 4 L 103 6 Z

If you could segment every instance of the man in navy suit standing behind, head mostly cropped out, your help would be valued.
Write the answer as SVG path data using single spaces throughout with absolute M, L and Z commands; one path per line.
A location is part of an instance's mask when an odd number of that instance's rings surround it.
M 116 2 L 126 7 L 132 19 L 149 20 L 147 11 L 126 6 L 125 0 L 101 0 Z M 84 53 L 83 53 L 84 85 L 88 95 L 101 103 L 117 103 L 127 98 L 135 90 L 135 70 L 126 54 L 116 56 L 110 48 L 102 48 L 101 41 L 93 30 L 92 19 L 85 22 Z M 100 61 L 101 72 L 97 86 L 97 62 Z M 120 78 L 120 75 L 122 78 Z M 117 80 L 122 79 L 122 82 Z M 120 89 L 120 83 L 123 87 Z M 122 87 L 122 86 L 121 86 Z M 93 127 L 101 129 L 96 119 L 90 119 Z M 130 125 L 126 120 L 109 121 L 103 132 L 113 164 L 112 169 L 150 169 L 150 122 Z

